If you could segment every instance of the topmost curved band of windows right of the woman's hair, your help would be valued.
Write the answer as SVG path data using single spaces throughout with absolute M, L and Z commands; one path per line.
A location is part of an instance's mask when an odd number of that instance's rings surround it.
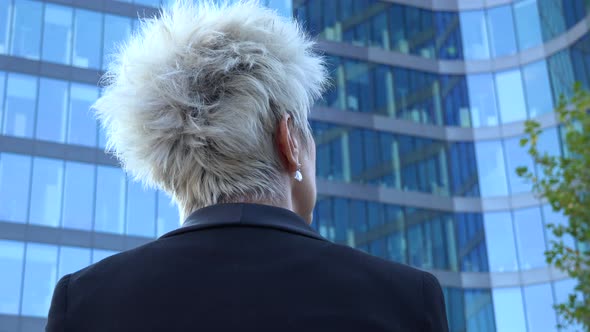
M 293 8 L 322 39 L 446 60 L 516 54 L 562 34 L 587 11 L 584 0 L 521 0 L 460 12 L 378 0 L 300 0 Z

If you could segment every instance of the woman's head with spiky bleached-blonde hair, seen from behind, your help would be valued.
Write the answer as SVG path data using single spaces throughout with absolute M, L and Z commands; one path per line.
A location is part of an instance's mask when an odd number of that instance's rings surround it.
M 94 105 L 107 149 L 137 180 L 171 194 L 181 218 L 259 202 L 310 221 L 307 115 L 326 81 L 312 46 L 296 23 L 256 1 L 176 3 L 114 54 Z

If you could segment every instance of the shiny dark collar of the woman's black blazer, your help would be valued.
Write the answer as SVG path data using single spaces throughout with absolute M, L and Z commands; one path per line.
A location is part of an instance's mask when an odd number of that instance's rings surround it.
M 186 218 L 182 227 L 162 235 L 167 238 L 205 228 L 248 226 L 274 228 L 318 240 L 328 241 L 319 235 L 294 212 L 270 205 L 250 203 L 217 204 L 199 209 Z

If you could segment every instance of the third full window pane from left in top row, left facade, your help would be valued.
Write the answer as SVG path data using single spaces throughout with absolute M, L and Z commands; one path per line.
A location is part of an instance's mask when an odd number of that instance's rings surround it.
M 72 64 L 82 68 L 100 68 L 102 14 L 76 9 Z

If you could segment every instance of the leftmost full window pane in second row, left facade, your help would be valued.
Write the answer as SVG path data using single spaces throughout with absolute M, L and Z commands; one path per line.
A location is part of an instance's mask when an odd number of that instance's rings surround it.
M 10 136 L 33 137 L 37 78 L 10 73 L 6 84 L 2 132 Z

